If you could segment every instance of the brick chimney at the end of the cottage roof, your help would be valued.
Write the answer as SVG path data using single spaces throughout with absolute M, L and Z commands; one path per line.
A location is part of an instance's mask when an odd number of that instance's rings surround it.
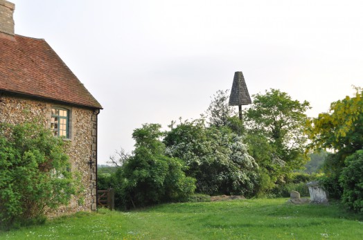
M 14 31 L 14 14 L 15 4 L 6 0 L 0 0 L 0 37 L 12 39 Z

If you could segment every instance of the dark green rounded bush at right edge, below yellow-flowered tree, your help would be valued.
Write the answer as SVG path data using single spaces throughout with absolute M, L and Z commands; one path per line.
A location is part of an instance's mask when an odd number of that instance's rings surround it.
M 346 158 L 346 167 L 340 175 L 343 187 L 342 202 L 350 209 L 363 213 L 363 150 Z

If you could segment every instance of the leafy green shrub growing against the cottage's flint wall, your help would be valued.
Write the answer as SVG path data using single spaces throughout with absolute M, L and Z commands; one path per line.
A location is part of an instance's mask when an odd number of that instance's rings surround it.
M 80 191 L 64 150 L 39 124 L 0 124 L 0 225 L 42 219 Z

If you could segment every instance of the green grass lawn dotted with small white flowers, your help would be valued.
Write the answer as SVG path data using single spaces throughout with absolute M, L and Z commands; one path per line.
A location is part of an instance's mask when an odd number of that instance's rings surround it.
M 0 239 L 362 239 L 363 216 L 341 205 L 287 199 L 171 203 L 131 212 L 80 212 Z

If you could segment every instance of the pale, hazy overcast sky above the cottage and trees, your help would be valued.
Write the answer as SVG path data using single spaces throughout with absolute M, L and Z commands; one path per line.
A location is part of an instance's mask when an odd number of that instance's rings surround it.
M 311 117 L 363 86 L 363 1 L 10 1 L 15 33 L 46 39 L 103 105 L 99 164 L 143 123 L 199 118 L 235 71 Z

